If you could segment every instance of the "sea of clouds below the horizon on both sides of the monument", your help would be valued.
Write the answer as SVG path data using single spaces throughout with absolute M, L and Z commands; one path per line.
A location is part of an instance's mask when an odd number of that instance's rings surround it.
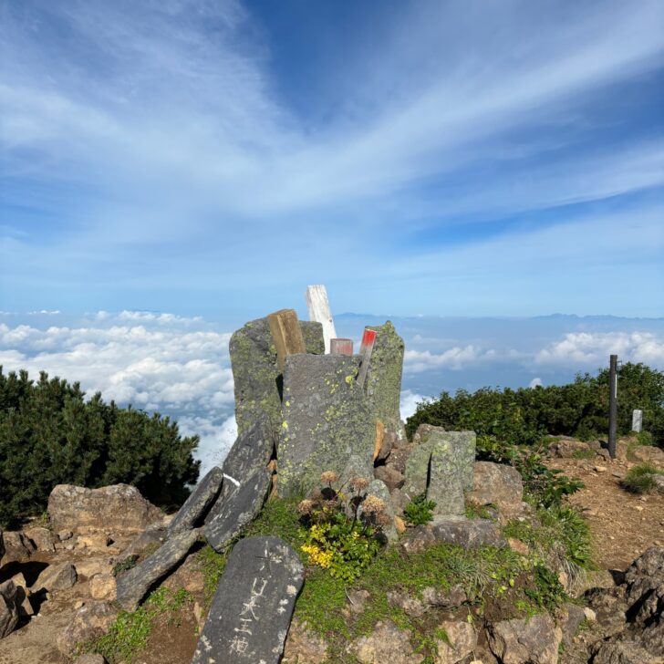
M 337 317 L 358 339 L 385 317 Z M 444 390 L 563 383 L 606 366 L 608 355 L 664 369 L 664 319 L 393 318 L 406 341 L 401 415 Z M 202 472 L 223 461 L 237 434 L 231 332 L 201 317 L 122 311 L 67 318 L 60 312 L 0 312 L 0 365 L 71 382 L 89 396 L 169 415 L 201 437 Z

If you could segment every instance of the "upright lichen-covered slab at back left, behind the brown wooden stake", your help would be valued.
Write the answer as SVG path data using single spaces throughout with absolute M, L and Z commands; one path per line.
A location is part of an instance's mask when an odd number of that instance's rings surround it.
M 323 326 L 300 321 L 300 328 L 306 352 L 322 355 L 325 352 Z M 252 320 L 234 332 L 229 350 L 238 433 L 244 433 L 265 413 L 278 438 L 282 424 L 282 372 L 277 365 L 275 343 L 267 318 Z

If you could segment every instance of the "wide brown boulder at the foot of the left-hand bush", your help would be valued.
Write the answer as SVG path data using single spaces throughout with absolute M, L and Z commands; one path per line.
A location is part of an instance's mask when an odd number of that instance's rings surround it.
M 130 532 L 143 530 L 163 514 L 129 484 L 100 489 L 57 484 L 48 497 L 48 516 L 55 530 L 94 527 Z

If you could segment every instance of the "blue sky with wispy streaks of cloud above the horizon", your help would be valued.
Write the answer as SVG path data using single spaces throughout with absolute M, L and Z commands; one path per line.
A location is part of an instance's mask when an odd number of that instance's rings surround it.
M 659 1 L 0 7 L 5 311 L 662 315 Z

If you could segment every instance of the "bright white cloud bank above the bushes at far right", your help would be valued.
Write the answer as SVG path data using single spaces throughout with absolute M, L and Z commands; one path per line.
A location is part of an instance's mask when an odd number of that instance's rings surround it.
M 541 365 L 597 368 L 607 365 L 609 355 L 617 355 L 623 361 L 664 368 L 664 338 L 651 332 L 569 333 L 540 350 L 534 361 Z

